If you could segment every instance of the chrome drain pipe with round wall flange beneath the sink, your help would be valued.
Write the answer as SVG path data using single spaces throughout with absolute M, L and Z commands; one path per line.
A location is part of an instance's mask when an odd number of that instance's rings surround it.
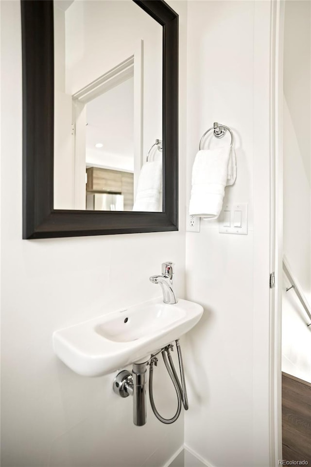
M 133 422 L 137 427 L 146 423 L 146 384 L 147 384 L 147 362 L 134 363 L 132 374 L 123 370 L 115 377 L 113 390 L 121 397 L 133 395 Z

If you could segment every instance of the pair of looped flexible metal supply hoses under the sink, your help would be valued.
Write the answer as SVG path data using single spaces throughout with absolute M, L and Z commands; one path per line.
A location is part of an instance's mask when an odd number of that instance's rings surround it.
M 170 424 L 173 423 L 177 420 L 177 418 L 180 415 L 181 412 L 181 407 L 182 404 L 185 407 L 185 410 L 188 410 L 188 398 L 187 398 L 187 390 L 186 390 L 186 382 L 185 382 L 185 375 L 184 375 L 184 366 L 183 366 L 183 360 L 182 360 L 182 354 L 181 354 L 181 348 L 179 344 L 179 340 L 176 341 L 176 347 L 177 347 L 177 354 L 178 354 L 178 361 L 179 361 L 179 369 L 180 369 L 180 375 L 181 375 L 181 384 L 179 381 L 179 378 L 177 376 L 175 366 L 173 363 L 172 355 L 170 352 L 170 347 L 167 346 L 164 349 L 162 349 L 162 357 L 163 361 L 165 364 L 165 367 L 168 371 L 168 374 L 170 375 L 170 378 L 172 379 L 176 394 L 177 394 L 177 411 L 175 415 L 172 418 L 164 418 L 162 417 L 158 411 L 155 408 L 155 401 L 154 401 L 154 396 L 153 396 L 153 373 L 154 373 L 154 360 L 151 359 L 150 361 L 150 369 L 149 369 L 149 398 L 150 398 L 150 404 L 151 408 L 153 410 L 153 413 L 155 414 L 156 418 L 160 420 L 162 423 Z M 167 356 L 166 356 L 167 354 Z

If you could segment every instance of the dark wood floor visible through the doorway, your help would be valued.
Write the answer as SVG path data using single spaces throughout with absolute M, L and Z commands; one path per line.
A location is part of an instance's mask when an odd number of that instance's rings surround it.
M 311 384 L 282 373 L 283 459 L 311 466 Z

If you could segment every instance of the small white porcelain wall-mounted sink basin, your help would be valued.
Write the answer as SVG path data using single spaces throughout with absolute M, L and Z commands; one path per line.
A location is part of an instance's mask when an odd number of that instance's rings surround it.
M 54 352 L 79 375 L 106 375 L 178 339 L 202 313 L 201 305 L 187 300 L 168 305 L 156 298 L 55 331 Z

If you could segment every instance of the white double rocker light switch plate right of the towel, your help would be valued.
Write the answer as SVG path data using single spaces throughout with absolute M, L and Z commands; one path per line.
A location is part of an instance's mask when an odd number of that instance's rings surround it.
M 230 214 L 227 214 L 227 213 Z M 239 214 L 236 214 L 239 213 Z M 241 213 L 241 214 L 240 214 Z M 241 216 L 241 227 L 234 227 L 237 218 Z M 230 221 L 228 222 L 228 217 Z M 229 224 L 229 225 L 228 225 Z M 221 234 L 247 235 L 248 233 L 248 203 L 225 204 L 219 216 L 219 232 Z

